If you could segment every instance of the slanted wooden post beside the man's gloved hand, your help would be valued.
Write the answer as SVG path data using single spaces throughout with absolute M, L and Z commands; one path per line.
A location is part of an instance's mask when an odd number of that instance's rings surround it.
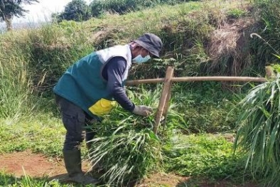
M 170 66 L 166 70 L 166 78 L 164 80 L 163 91 L 161 92 L 161 100 L 159 101 L 158 110 L 156 112 L 156 123 L 153 129 L 155 134 L 158 132 L 158 126 L 161 122 L 163 113 L 166 114 L 168 110 L 168 101 L 171 97 L 171 78 L 173 77 L 173 72 L 174 68 Z

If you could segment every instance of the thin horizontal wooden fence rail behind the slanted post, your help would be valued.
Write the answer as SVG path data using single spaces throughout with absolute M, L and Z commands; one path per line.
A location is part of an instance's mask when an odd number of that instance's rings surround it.
M 145 83 L 164 82 L 165 78 L 143 79 L 143 80 L 127 80 L 126 85 L 139 85 Z M 171 78 L 171 82 L 192 82 L 192 81 L 235 81 L 235 82 L 266 82 L 266 78 L 251 77 L 185 77 Z

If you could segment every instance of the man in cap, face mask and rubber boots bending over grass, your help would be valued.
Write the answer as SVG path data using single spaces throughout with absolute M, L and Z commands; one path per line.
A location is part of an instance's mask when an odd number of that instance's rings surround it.
M 55 100 L 67 130 L 63 146 L 65 167 L 70 180 L 77 183 L 97 183 L 82 173 L 80 144 L 85 139 L 85 122 L 108 114 L 117 101 L 124 109 L 147 116 L 150 107 L 134 105 L 123 88 L 131 62 L 145 63 L 159 58 L 163 43 L 158 36 L 145 33 L 124 46 L 98 50 L 72 65 L 53 88 Z M 86 141 L 93 134 L 86 134 Z

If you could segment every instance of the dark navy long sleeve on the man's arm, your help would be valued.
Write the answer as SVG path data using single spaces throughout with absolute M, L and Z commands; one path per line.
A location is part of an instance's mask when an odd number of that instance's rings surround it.
M 124 88 L 122 87 L 122 75 L 126 69 L 126 60 L 122 57 L 114 57 L 102 70 L 102 76 L 107 83 L 108 92 L 112 93 L 114 100 L 124 109 L 132 112 L 134 110 L 134 103 L 129 100 Z

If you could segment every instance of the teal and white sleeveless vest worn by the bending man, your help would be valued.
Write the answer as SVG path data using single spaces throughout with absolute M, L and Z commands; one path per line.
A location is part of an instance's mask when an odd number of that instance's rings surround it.
M 53 92 L 81 107 L 90 116 L 94 116 L 89 110 L 92 105 L 102 98 L 113 100 L 112 95 L 107 92 L 107 80 L 102 77 L 102 70 L 109 60 L 116 56 L 126 60 L 126 70 L 122 76 L 124 85 L 131 67 L 129 45 L 98 50 L 80 59 L 66 70 L 53 88 Z

